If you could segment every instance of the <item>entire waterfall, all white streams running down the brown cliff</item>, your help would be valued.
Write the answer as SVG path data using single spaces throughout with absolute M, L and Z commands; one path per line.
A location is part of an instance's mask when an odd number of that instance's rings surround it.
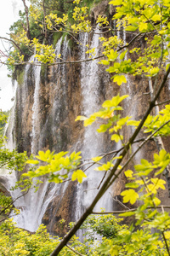
M 92 48 L 96 48 L 96 55 L 99 55 L 99 28 L 96 28 L 94 32 L 94 37 L 92 39 Z M 80 58 L 85 58 L 85 45 L 88 44 L 88 33 L 81 35 L 82 49 Z M 68 42 L 66 38 L 61 45 L 62 39 L 59 39 L 56 45 L 56 55 L 61 54 L 61 58 L 65 61 L 68 56 L 71 54 L 68 47 Z M 33 58 L 33 56 L 32 56 Z M 101 84 L 104 81 L 104 78 L 99 78 L 102 76 L 101 71 L 99 70 L 98 60 L 82 62 L 81 67 L 81 88 L 82 88 L 82 114 L 89 115 L 94 113 L 100 108 L 100 94 L 101 94 Z M 65 139 L 65 133 L 68 127 L 68 82 L 69 79 L 67 76 L 66 64 L 59 65 L 55 67 L 54 71 L 52 70 L 52 75 L 50 77 L 50 86 L 48 92 L 52 91 L 52 96 L 48 104 L 50 105 L 48 115 L 42 125 L 40 125 L 41 119 L 41 101 L 40 92 L 42 94 L 42 88 L 40 88 L 40 66 L 31 67 L 27 65 L 25 69 L 25 83 L 21 88 L 22 95 L 25 95 L 25 98 L 30 97 L 32 92 L 34 95 L 31 97 L 31 153 L 37 154 L 37 151 L 46 147 L 44 143 L 48 136 L 53 134 L 54 143 L 52 143 L 51 149 L 60 151 L 65 150 L 67 140 Z M 103 71 L 102 71 L 103 72 Z M 28 75 L 29 73 L 29 75 Z M 27 78 L 28 77 L 28 78 Z M 28 83 L 27 79 L 34 81 L 34 83 Z M 26 79 L 27 78 L 27 79 Z M 105 79 L 109 77 L 105 76 Z M 30 82 L 31 82 L 30 80 Z M 42 85 L 42 84 L 41 84 Z M 48 94 L 48 93 L 47 93 Z M 27 103 L 28 104 L 28 103 Z M 31 103 L 32 104 L 32 103 Z M 24 102 L 20 100 L 20 108 L 23 109 Z M 63 126 L 61 126 L 63 125 Z M 84 133 L 83 146 L 82 146 L 82 158 L 87 160 L 94 156 L 97 156 L 104 151 L 104 137 L 99 135 L 96 131 L 97 126 L 92 125 L 88 126 Z M 65 144 L 63 146 L 63 141 Z M 66 145 L 66 146 L 65 146 Z M 73 145 L 71 145 L 73 148 Z M 88 161 L 85 161 L 87 166 L 89 165 Z M 93 168 L 89 168 L 87 173 L 88 179 L 85 180 L 82 184 L 77 185 L 77 211 L 76 219 L 80 217 L 82 212 L 89 203 L 93 201 L 94 196 L 97 194 L 100 181 L 102 180 L 104 173 L 94 171 Z M 98 177 L 98 178 L 96 178 Z M 37 193 L 34 193 L 33 189 L 30 189 L 26 195 L 24 195 L 18 201 L 17 207 L 20 208 L 20 215 L 14 217 L 14 221 L 17 222 L 19 227 L 25 228 L 26 230 L 35 231 L 39 224 L 41 224 L 42 216 L 48 207 L 48 203 L 54 199 L 55 196 L 59 195 L 59 204 L 62 201 L 65 190 L 67 189 L 67 184 L 49 184 L 45 178 L 42 180 L 43 183 L 40 185 Z M 112 199 L 110 195 L 105 195 L 105 198 L 101 198 L 97 206 L 95 207 L 96 211 L 100 211 L 100 207 L 105 207 L 106 211 L 112 209 Z M 56 211 L 57 211 L 56 207 Z M 52 225 L 52 222 L 51 224 Z M 48 229 L 50 230 L 49 226 Z

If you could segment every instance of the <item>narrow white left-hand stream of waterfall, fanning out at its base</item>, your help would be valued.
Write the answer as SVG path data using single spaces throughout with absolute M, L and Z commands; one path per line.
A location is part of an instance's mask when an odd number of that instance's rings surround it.
M 33 56 L 31 60 L 33 60 Z M 25 70 L 25 78 L 29 72 L 31 66 L 28 64 Z M 40 73 L 41 73 L 41 66 L 33 67 L 33 79 L 35 82 L 35 89 L 34 89 L 34 103 L 32 107 L 32 140 L 31 140 L 31 153 L 37 153 L 37 140 L 40 134 L 39 130 L 39 119 L 38 119 L 38 112 L 39 112 L 39 89 L 40 89 Z M 27 83 L 25 79 L 25 87 L 27 91 Z M 46 184 L 42 184 L 42 188 L 46 187 Z M 39 224 L 41 224 L 41 219 L 39 221 L 39 215 L 41 212 L 42 201 L 44 197 L 44 189 L 40 189 L 37 193 L 34 193 L 34 189 L 30 189 L 26 195 L 24 195 L 22 200 L 22 205 L 20 206 L 20 214 L 14 217 L 14 221 L 18 224 L 19 227 L 25 228 L 26 230 L 35 231 Z M 24 201 L 24 203 L 23 203 Z

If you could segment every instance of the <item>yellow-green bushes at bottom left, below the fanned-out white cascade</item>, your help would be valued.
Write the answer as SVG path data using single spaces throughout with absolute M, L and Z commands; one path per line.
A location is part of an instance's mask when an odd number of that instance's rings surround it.
M 59 237 L 50 237 L 46 227 L 42 224 L 35 234 L 17 228 L 12 219 L 6 220 L 0 225 L 0 248 L 2 255 L 49 255 L 54 247 L 59 244 Z M 86 253 L 87 246 L 78 241 L 77 236 L 71 239 L 70 247 L 79 253 Z M 75 255 L 69 248 L 65 247 L 59 255 Z M 94 254 L 95 255 L 95 254 Z

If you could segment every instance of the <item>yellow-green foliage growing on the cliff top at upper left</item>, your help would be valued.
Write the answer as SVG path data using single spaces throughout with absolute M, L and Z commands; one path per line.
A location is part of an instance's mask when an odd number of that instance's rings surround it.
M 14 72 L 14 64 L 24 63 L 35 50 L 38 61 L 54 63 L 54 48 L 52 45 L 48 45 L 50 35 L 55 32 L 66 32 L 75 38 L 74 33 L 91 31 L 88 11 L 90 7 L 92 8 L 95 3 L 100 1 L 30 0 L 30 38 L 27 36 L 26 12 L 20 11 L 20 20 L 10 26 L 13 49 L 8 57 L 8 69 Z

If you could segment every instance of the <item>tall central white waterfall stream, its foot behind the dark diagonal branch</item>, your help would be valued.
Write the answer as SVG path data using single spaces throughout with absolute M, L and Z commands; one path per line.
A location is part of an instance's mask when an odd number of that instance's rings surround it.
M 92 39 L 91 48 L 95 48 L 96 54 L 99 55 L 99 28 L 97 27 L 94 31 L 94 37 Z M 88 33 L 81 35 L 81 59 L 85 59 L 85 45 L 88 44 Z M 82 62 L 81 72 L 81 86 L 82 86 L 82 114 L 89 116 L 91 113 L 99 110 L 99 65 L 98 60 Z M 87 166 L 90 166 L 88 160 L 103 153 L 104 148 L 104 137 L 97 131 L 97 126 L 90 125 L 85 129 L 84 140 L 82 146 L 82 159 Z M 89 206 L 94 200 L 95 195 L 98 192 L 98 186 L 104 177 L 103 172 L 94 171 L 96 166 L 89 167 L 86 171 L 87 178 L 82 184 L 77 185 L 77 218 L 80 218 L 82 212 Z M 107 198 L 105 198 L 105 196 Z M 105 208 L 106 211 L 112 209 L 110 203 L 110 195 L 104 195 L 95 207 L 95 211 L 99 211 Z

